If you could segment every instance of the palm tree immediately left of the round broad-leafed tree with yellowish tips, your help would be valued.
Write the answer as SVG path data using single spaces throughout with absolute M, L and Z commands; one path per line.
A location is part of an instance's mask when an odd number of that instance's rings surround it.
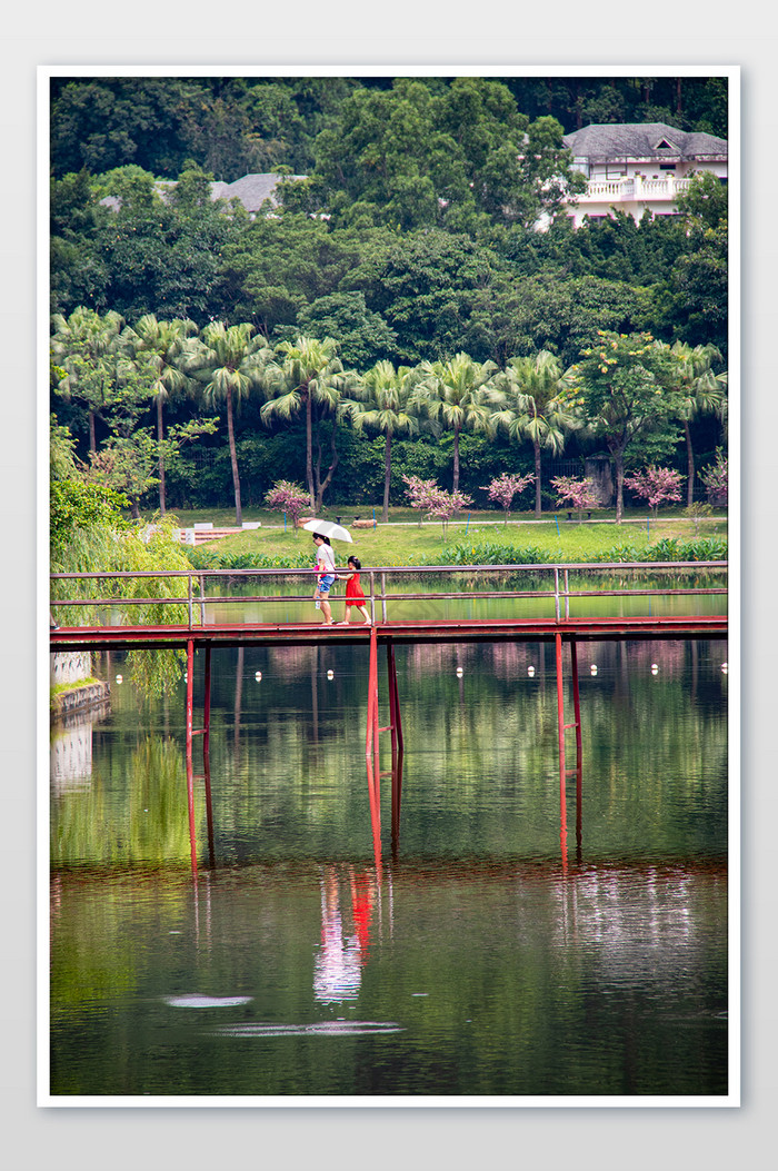
M 497 379 L 508 406 L 497 413 L 495 422 L 511 439 L 529 439 L 535 452 L 536 516 L 543 512 L 542 448 L 558 456 L 564 450 L 566 432 L 578 425 L 559 397 L 562 378 L 559 359 L 549 350 L 539 350 L 535 357 L 510 358 Z

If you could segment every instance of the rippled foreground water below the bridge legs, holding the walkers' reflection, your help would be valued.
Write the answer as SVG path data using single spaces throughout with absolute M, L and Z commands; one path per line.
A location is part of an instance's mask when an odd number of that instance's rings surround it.
M 207 934 L 191 882 L 61 876 L 53 1091 L 725 1093 L 724 867 L 362 871 L 367 903 L 342 863 L 200 876 Z

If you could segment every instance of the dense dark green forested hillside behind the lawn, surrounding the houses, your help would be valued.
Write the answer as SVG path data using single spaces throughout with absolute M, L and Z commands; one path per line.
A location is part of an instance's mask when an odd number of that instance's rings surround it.
M 259 505 L 311 468 L 326 502 L 378 501 L 387 431 L 354 425 L 354 404 L 380 410 L 381 369 L 419 404 L 420 378 L 428 391 L 435 368 L 440 383 L 464 355 L 474 390 L 502 372 L 505 393 L 528 362 L 551 362 L 559 383 L 604 336 L 650 335 L 676 355 L 675 375 L 654 371 L 667 409 L 638 429 L 624 468 L 661 459 L 686 473 L 693 446 L 698 467 L 712 464 L 725 445 L 725 186 L 700 182 L 679 215 L 638 224 L 574 231 L 558 214 L 580 183 L 563 136 L 649 121 L 727 137 L 727 80 L 53 78 L 55 424 L 82 467 L 144 508 L 160 479 L 168 508 L 225 506 L 239 479 Z M 267 214 L 212 200 L 212 180 L 256 172 L 283 177 Z M 309 372 L 307 420 L 292 354 L 328 338 L 326 393 Z M 536 466 L 521 411 L 491 433 L 475 409 L 461 429 L 405 413 L 415 424 L 393 440 L 392 502 L 402 474 L 450 482 L 453 460 L 467 492 Z M 550 422 L 545 438 L 544 491 L 551 457 L 571 470 L 606 450 L 591 425 Z

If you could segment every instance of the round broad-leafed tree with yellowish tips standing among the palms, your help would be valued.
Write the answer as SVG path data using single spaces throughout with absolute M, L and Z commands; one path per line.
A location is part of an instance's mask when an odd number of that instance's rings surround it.
M 607 446 L 615 467 L 615 519 L 624 516 L 625 454 L 629 444 L 677 418 L 677 393 L 668 389 L 672 363 L 650 334 L 599 330 L 565 374 L 566 406 L 580 413 L 584 432 Z

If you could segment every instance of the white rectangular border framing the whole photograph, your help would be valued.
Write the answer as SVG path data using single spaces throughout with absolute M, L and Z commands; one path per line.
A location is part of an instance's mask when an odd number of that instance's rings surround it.
M 365 1098 L 342 1096 L 221 1096 L 177 1095 L 163 1098 L 128 1095 L 62 1097 L 49 1093 L 49 766 L 48 766 L 48 574 L 49 574 L 49 516 L 48 516 L 48 321 L 49 321 L 49 81 L 51 77 L 106 76 L 477 76 L 477 77 L 570 77 L 570 76 L 721 76 L 728 78 L 729 90 L 729 615 L 728 649 L 729 673 L 729 857 L 728 857 L 728 932 L 729 932 L 729 1089 L 721 1096 L 371 1096 Z M 37 489 L 37 644 L 36 644 L 36 701 L 37 701 L 37 1105 L 55 1108 L 172 1108 L 172 1107 L 230 1107 L 230 1108 L 335 1108 L 372 1109 L 395 1108 L 704 1108 L 741 1105 L 741 69 L 739 66 L 594 66 L 571 62 L 566 66 L 508 66 L 508 64 L 314 64 L 314 66 L 39 66 L 37 67 L 37 427 L 36 427 L 36 489 Z

